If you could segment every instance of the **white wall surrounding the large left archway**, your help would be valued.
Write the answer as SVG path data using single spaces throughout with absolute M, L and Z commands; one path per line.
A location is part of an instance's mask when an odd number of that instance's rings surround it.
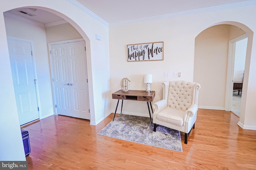
M 60 4 L 62 5 L 60 6 Z M 3 12 L 30 6 L 59 15 L 71 23 L 82 35 L 86 41 L 86 47 L 88 47 L 86 56 L 88 58 L 91 124 L 96 124 L 101 119 L 104 119 L 110 111 L 108 26 L 65 0 L 9 0 L 4 3 L 4 6 L 0 6 L 0 14 L 2 14 L 0 15 L 0 77 L 4 80 L 4 83 L 0 84 L 2 89 L 0 95 L 0 104 L 2 106 L 0 107 L 0 127 L 2 131 L 0 135 L 1 139 L 4 139 L 0 140 L 0 160 L 26 160 L 15 104 Z M 97 41 L 95 34 L 101 35 L 102 40 Z M 46 49 L 46 44 L 44 44 L 44 47 Z M 43 50 L 44 47 L 42 48 Z M 45 59 L 48 58 L 40 58 L 38 64 L 40 62 L 44 63 Z M 46 69 L 49 72 L 49 67 L 42 68 L 38 66 L 38 69 Z M 37 76 L 40 76 L 40 73 Z

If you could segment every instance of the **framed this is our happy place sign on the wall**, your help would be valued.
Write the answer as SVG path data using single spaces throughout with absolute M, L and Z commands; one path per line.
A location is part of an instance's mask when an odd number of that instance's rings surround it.
M 128 61 L 164 60 L 164 42 L 127 45 Z

